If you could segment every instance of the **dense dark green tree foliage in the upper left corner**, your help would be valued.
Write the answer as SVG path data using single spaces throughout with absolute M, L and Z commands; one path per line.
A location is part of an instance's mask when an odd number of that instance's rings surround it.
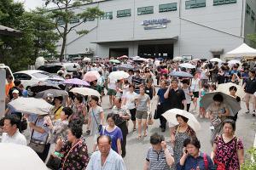
M 22 3 L 0 1 L 0 25 L 21 31 L 20 37 L 0 36 L 0 63 L 26 70 L 42 54 L 55 54 L 55 24 L 44 9 L 26 12 Z

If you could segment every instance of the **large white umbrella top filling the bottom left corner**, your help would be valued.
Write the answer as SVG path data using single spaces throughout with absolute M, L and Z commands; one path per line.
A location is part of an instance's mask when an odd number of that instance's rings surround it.
M 0 143 L 0 150 L 1 169 L 48 170 L 38 154 L 26 145 Z

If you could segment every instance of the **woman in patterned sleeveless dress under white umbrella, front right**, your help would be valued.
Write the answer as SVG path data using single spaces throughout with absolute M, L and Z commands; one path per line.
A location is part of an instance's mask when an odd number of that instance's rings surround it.
M 175 127 L 175 131 L 171 134 L 171 142 L 174 145 L 174 160 L 178 162 L 183 156 L 183 142 L 185 139 L 195 137 L 195 131 L 192 127 L 189 127 L 189 119 L 185 116 L 177 115 L 178 125 Z

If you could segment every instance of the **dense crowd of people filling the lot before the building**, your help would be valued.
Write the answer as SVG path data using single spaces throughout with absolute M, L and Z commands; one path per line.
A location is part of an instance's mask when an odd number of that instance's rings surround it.
M 48 166 L 51 166 L 50 159 L 59 159 L 57 169 L 124 170 L 127 134 L 137 132 L 137 140 L 150 135 L 151 147 L 145 157 L 144 170 L 167 170 L 170 167 L 177 170 L 240 169 L 244 162 L 244 146 L 235 134 L 238 112 L 232 113 L 222 94 L 214 94 L 213 102 L 207 108 L 202 98 L 217 92 L 220 84 L 232 82 L 227 94 L 236 99 L 237 105 L 241 105 L 242 99 L 236 94 L 236 86 L 241 86 L 245 91 L 246 113 L 256 116 L 255 66 L 247 61 L 241 65 L 229 65 L 197 60 L 190 61 L 191 65 L 195 65 L 190 69 L 180 67 L 181 63 L 183 61 L 164 60 L 156 65 L 152 59 L 147 63 L 131 63 L 133 69 L 120 69 L 119 65 L 107 63 L 86 63 L 73 75 L 59 71 L 59 76 L 65 79 L 81 80 L 87 72 L 97 71 L 100 77 L 89 83 L 90 88 L 101 97 L 72 93 L 70 90 L 79 85 L 69 84 L 63 88 L 68 96 L 49 94 L 44 98 L 53 105 L 48 115 L 21 113 L 7 105 L 1 122 L 4 132 L 2 143 L 27 144 Z M 111 72 L 119 70 L 126 71 L 129 77 L 119 80 L 108 77 Z M 171 76 L 173 71 L 193 76 Z M 20 80 L 13 81 L 13 77 L 7 80 L 7 103 L 21 96 L 28 97 Z M 102 108 L 104 95 L 109 96 L 108 115 Z M 155 111 L 154 99 L 157 100 Z M 177 114 L 176 125 L 166 120 L 163 113 L 174 108 L 189 111 L 194 116 L 198 114 L 198 120 L 206 118 L 211 122 L 210 155 L 200 150 L 201 142 L 196 137 L 195 129 L 189 126 L 188 117 Z M 148 134 L 149 121 L 153 117 L 160 120 L 162 133 L 168 127 L 170 141 L 159 133 Z M 130 120 L 131 132 L 128 128 Z M 26 130 L 26 122 L 31 132 L 28 141 L 22 134 Z M 83 132 L 83 126 L 86 132 Z M 93 136 L 91 156 L 84 133 Z M 49 153 L 50 147 L 55 148 L 54 153 Z

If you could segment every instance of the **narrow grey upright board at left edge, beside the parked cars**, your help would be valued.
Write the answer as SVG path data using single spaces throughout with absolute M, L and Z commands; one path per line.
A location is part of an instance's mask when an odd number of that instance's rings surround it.
M 0 117 L 3 116 L 5 111 L 5 79 L 6 71 L 0 68 Z

